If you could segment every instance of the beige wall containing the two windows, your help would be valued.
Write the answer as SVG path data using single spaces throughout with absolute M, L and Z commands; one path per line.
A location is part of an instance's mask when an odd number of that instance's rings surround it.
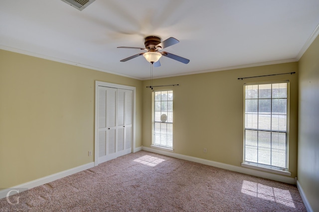
M 156 71 L 156 69 L 154 70 Z M 238 80 L 279 73 L 293 75 Z M 153 85 L 179 84 L 174 92 L 174 152 L 241 166 L 243 161 L 244 83 L 290 80 L 289 170 L 297 176 L 298 63 L 260 66 L 153 80 Z M 152 139 L 152 90 L 143 88 L 143 145 Z M 203 153 L 207 148 L 207 153 Z

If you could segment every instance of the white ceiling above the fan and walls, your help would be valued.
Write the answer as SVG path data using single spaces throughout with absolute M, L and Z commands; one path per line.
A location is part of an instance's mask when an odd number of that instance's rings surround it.
M 165 48 L 153 77 L 298 61 L 319 33 L 319 0 L 95 0 L 82 11 L 61 0 L 0 0 L 0 48 L 150 78 L 148 35 Z

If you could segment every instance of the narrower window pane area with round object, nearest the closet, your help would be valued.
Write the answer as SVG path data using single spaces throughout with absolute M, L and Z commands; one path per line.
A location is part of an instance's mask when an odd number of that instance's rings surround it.
M 173 148 L 173 91 L 153 93 L 153 145 Z

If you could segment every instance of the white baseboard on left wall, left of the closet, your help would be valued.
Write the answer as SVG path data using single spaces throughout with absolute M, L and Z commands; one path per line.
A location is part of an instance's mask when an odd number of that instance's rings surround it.
M 34 187 L 41 186 L 41 185 L 46 184 L 46 183 L 50 183 L 52 181 L 55 181 L 55 180 L 61 179 L 63 177 L 75 174 L 77 172 L 84 171 L 84 170 L 92 168 L 92 167 L 94 167 L 94 162 L 87 163 L 87 164 L 84 164 L 82 166 L 74 167 L 72 169 L 68 169 L 68 170 L 65 170 L 65 171 L 62 171 L 62 172 L 58 172 L 58 173 L 55 173 L 53 175 L 49 175 L 49 176 L 46 176 L 46 177 L 43 177 L 43 178 L 39 178 L 37 180 L 33 180 L 33 181 L 30 181 L 30 182 L 27 182 L 27 183 L 23 183 L 23 184 L 14 186 L 12 188 L 1 190 L 0 191 L 0 199 L 5 198 L 6 195 L 13 189 L 14 190 L 23 189 L 23 191 L 25 191 L 27 189 L 32 189 Z M 20 191 L 20 192 L 22 192 L 22 191 Z M 9 195 L 10 194 L 13 195 L 15 193 L 14 192 L 10 192 Z

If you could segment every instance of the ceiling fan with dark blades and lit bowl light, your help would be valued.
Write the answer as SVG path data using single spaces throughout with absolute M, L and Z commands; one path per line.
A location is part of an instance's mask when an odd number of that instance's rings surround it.
M 131 60 L 133 58 L 136 58 L 138 56 L 143 55 L 145 57 L 145 59 L 154 64 L 154 67 L 159 67 L 160 66 L 160 57 L 161 56 L 165 56 L 168 58 L 171 58 L 173 60 L 177 60 L 181 63 L 187 64 L 189 63 L 189 60 L 168 52 L 160 52 L 159 50 L 166 48 L 168 46 L 174 45 L 176 43 L 179 43 L 179 41 L 173 37 L 170 37 L 164 41 L 160 41 L 160 38 L 157 36 L 148 36 L 145 38 L 145 48 L 140 48 L 140 47 L 125 47 L 125 46 L 121 46 L 118 48 L 127 48 L 127 49 L 141 49 L 141 50 L 146 50 L 147 52 L 144 53 L 139 53 L 136 55 L 133 55 L 131 57 L 125 58 L 123 60 L 121 60 L 121 62 L 126 62 L 128 60 Z

